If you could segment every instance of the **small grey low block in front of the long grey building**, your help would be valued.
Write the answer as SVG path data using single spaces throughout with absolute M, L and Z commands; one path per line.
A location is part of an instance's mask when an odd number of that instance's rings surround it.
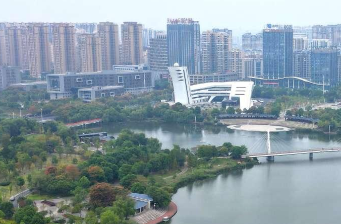
M 124 86 L 91 87 L 78 90 L 78 98 L 91 102 L 102 97 L 115 97 L 124 94 Z

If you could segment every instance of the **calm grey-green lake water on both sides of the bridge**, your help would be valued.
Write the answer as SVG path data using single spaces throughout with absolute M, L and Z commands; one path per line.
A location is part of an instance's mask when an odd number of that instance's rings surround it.
M 101 127 L 113 135 L 123 128 L 157 137 L 163 148 L 173 144 L 221 145 L 230 141 L 265 152 L 264 133 L 178 124 L 125 124 Z M 340 136 L 271 134 L 272 151 L 340 146 Z M 202 143 L 200 141 L 207 141 Z M 285 142 L 285 143 L 284 143 Z M 255 147 L 255 145 L 259 145 Z M 172 224 L 207 223 L 340 223 L 341 153 L 275 157 L 251 169 L 198 181 L 178 190 L 173 201 L 178 213 Z

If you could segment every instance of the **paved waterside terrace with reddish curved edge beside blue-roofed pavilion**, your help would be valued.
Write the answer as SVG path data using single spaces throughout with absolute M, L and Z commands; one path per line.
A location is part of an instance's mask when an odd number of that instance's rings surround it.
M 178 211 L 177 205 L 171 201 L 168 209 L 151 209 L 134 216 L 135 221 L 140 224 L 157 224 L 163 221 L 163 217 L 173 217 Z

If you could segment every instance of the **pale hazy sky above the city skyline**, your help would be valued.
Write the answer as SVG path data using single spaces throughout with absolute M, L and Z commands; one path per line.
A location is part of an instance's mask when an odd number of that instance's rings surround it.
M 0 8 L 6 22 L 134 21 L 165 30 L 167 18 L 193 18 L 201 31 L 228 28 L 235 35 L 266 23 L 341 23 L 339 0 L 0 0 Z

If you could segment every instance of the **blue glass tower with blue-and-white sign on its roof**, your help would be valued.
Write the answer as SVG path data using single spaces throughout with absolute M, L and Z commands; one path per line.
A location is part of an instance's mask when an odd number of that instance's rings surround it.
M 266 79 L 292 76 L 292 25 L 267 24 L 263 29 L 263 74 Z

